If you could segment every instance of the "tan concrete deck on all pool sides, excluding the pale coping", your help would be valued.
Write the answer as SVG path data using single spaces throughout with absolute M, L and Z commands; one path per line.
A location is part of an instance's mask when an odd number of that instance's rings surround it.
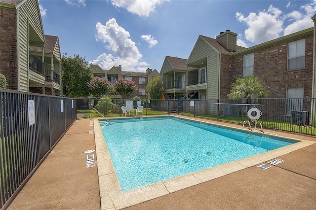
M 87 154 L 84 153 L 95 149 L 94 135 L 91 134 L 94 130 L 93 124 L 90 124 L 92 121 L 80 119 L 71 126 L 8 209 L 101 209 L 97 167 L 86 168 Z M 310 136 L 275 130 L 266 132 L 316 141 L 315 137 Z M 267 170 L 259 169 L 257 165 L 245 168 L 126 209 L 314 210 L 316 143 L 278 158 L 284 162 L 271 165 Z

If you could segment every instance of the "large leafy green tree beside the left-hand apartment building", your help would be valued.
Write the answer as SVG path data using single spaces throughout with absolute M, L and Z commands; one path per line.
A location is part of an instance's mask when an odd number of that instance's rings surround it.
M 67 97 L 88 97 L 89 88 L 87 83 L 93 78 L 92 70 L 88 67 L 85 57 L 64 54 L 62 59 L 63 68 L 63 93 Z

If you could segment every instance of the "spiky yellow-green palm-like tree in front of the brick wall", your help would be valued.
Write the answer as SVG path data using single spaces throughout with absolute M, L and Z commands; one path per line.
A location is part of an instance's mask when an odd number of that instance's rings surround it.
M 230 94 L 227 95 L 230 99 L 251 99 L 251 95 L 264 98 L 269 95 L 269 91 L 264 87 L 263 80 L 255 75 L 237 77 L 231 88 Z

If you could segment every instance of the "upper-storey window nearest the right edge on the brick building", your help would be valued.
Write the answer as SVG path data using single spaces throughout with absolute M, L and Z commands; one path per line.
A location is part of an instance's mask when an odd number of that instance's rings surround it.
M 305 68 L 305 39 L 288 43 L 287 70 L 301 70 Z

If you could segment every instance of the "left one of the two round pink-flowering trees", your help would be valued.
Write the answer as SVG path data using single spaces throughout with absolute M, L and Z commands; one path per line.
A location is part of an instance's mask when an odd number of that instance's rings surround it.
M 98 76 L 94 77 L 90 82 L 87 83 L 90 94 L 94 98 L 102 98 L 103 96 L 111 95 L 113 91 L 113 85 L 105 78 Z

